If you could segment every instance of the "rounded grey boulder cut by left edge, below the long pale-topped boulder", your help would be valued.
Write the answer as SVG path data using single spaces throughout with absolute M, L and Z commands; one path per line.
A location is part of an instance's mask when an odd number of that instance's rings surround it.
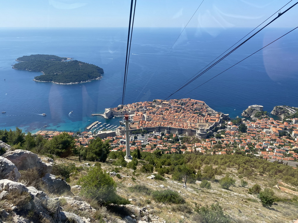
M 21 174 L 18 172 L 18 168 L 7 158 L 0 156 L 0 180 L 10 179 L 17 181 Z

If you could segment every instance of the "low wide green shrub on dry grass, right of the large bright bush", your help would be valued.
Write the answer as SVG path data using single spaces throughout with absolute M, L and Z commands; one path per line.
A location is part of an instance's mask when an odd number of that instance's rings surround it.
M 154 200 L 162 203 L 173 203 L 173 204 L 183 204 L 185 200 L 181 197 L 180 194 L 176 191 L 171 190 L 160 190 L 154 191 L 152 193 L 152 197 Z

